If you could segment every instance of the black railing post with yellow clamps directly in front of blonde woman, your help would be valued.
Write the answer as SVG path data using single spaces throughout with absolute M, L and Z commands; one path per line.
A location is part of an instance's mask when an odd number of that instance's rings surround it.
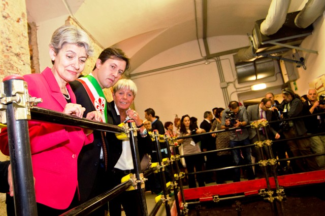
M 133 126 L 134 121 L 129 120 L 127 121 L 128 127 L 131 129 L 129 132 L 129 140 L 131 144 L 131 151 L 132 151 L 132 159 L 133 159 L 133 164 L 134 164 L 134 170 L 135 170 L 135 175 L 137 179 L 137 190 L 138 194 L 140 196 L 140 203 L 141 203 L 141 210 L 142 210 L 142 215 L 148 215 L 148 208 L 147 208 L 147 202 L 146 202 L 146 196 L 144 192 L 144 178 L 143 174 L 140 174 L 141 172 L 141 164 L 140 164 L 140 156 L 138 152 L 138 143 L 137 143 L 137 137 L 134 136 L 133 132 L 135 131 L 135 128 Z

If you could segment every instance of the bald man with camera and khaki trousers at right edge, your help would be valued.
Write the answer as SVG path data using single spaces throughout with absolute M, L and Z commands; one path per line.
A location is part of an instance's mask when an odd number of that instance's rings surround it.
M 324 115 L 320 114 L 324 112 L 325 108 L 324 96 L 323 94 L 319 96 L 319 101 L 317 101 L 317 91 L 315 89 L 309 89 L 307 92 L 308 101 L 304 103 L 304 115 L 319 113 L 319 115 L 304 118 L 307 134 L 324 132 Z M 313 136 L 310 140 L 313 153 L 325 153 L 325 136 Z M 315 159 L 319 168 L 325 167 L 325 155 L 315 157 Z

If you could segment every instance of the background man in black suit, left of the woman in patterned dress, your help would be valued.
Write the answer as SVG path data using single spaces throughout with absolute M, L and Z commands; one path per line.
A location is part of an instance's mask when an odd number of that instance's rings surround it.
M 213 119 L 213 115 L 210 111 L 205 111 L 203 115 L 204 119 L 200 124 L 200 128 L 204 129 L 206 132 L 209 132 L 211 129 L 211 120 Z M 216 145 L 215 145 L 215 138 L 212 137 L 211 135 L 202 135 L 201 136 L 201 150 L 202 151 L 212 151 L 216 150 Z M 205 163 L 205 168 L 206 170 L 213 169 L 215 167 L 215 158 L 216 158 L 216 153 L 213 154 L 207 154 L 207 161 Z M 213 182 L 213 173 L 212 172 L 207 172 L 206 173 L 206 183 Z

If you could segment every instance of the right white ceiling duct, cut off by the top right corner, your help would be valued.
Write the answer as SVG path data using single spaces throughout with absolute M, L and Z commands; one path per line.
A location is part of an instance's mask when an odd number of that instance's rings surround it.
M 295 24 L 299 28 L 306 28 L 322 15 L 325 10 L 324 0 L 309 0 L 303 10 L 297 15 Z

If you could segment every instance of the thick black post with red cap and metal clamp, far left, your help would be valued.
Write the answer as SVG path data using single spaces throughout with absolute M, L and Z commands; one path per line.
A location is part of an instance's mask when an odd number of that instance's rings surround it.
M 17 75 L 7 76 L 3 81 L 1 106 L 4 110 L 3 105 L 7 105 L 6 114 L 2 115 L 7 117 L 15 212 L 16 215 L 37 215 L 27 122 L 30 119 L 27 84 Z

